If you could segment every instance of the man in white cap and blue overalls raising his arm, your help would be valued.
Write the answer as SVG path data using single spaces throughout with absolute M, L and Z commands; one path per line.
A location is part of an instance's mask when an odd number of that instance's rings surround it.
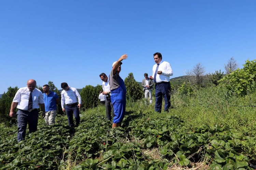
M 127 57 L 128 55 L 124 54 L 112 64 L 112 70 L 109 76 L 111 102 L 114 107 L 112 129 L 121 126 L 125 117 L 126 87 L 124 80 L 119 76 L 119 73 L 121 71 L 121 65 L 123 64 L 122 61 Z

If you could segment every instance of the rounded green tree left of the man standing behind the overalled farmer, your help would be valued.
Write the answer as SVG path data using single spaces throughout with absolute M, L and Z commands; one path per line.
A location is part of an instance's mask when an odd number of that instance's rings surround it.
M 93 108 L 97 106 L 98 102 L 98 92 L 96 92 L 96 88 L 92 85 L 85 86 L 81 93 L 81 98 L 83 101 L 84 108 Z

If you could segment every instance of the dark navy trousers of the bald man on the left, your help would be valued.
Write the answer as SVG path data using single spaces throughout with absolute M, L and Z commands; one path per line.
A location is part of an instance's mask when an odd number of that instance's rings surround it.
M 17 141 L 24 140 L 28 124 L 29 133 L 37 131 L 38 110 L 34 109 L 31 112 L 18 110 L 17 112 L 18 135 Z

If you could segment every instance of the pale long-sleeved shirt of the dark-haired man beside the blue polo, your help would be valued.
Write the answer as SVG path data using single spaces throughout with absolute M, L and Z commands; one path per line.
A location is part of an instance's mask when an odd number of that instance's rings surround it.
M 65 104 L 76 103 L 78 99 L 79 104 L 82 103 L 82 98 L 79 92 L 74 87 L 69 87 L 69 90 L 61 91 L 61 107 L 64 108 Z

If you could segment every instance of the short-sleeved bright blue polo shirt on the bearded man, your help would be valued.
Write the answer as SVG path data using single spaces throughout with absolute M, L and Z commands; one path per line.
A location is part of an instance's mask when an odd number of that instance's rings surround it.
M 45 112 L 57 110 L 56 99 L 59 98 L 56 92 L 50 91 L 49 95 L 43 94 Z

